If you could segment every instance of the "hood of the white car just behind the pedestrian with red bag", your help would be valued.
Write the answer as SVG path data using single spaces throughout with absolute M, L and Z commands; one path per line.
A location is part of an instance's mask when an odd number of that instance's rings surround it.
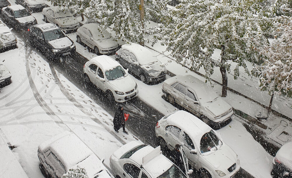
M 136 86 L 136 82 L 133 81 L 133 79 L 129 75 L 116 80 L 109 80 L 109 84 L 120 92 L 130 91 Z

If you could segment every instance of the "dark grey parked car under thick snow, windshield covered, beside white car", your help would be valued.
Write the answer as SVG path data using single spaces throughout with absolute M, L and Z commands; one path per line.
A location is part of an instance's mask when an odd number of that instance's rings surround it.
M 124 44 L 116 52 L 116 60 L 144 83 L 165 80 L 165 66 L 144 46 L 136 43 Z

